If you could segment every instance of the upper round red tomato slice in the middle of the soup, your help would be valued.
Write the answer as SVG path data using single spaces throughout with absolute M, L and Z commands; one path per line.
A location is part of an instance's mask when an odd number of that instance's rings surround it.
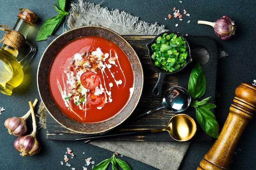
M 92 71 L 87 71 L 81 75 L 80 81 L 83 87 L 85 87 L 86 89 L 92 90 L 99 85 L 100 78 L 98 74 Z

